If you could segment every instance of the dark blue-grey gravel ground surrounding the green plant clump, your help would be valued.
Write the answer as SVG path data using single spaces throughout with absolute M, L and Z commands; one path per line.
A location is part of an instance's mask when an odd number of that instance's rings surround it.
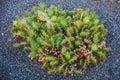
M 26 10 L 39 2 L 62 4 L 64 9 L 90 8 L 104 21 L 107 45 L 112 48 L 107 59 L 90 65 L 80 75 L 48 75 L 41 64 L 30 61 L 28 53 L 15 49 L 16 41 L 8 30 L 15 16 L 24 16 Z M 120 80 L 120 1 L 119 0 L 0 0 L 0 80 Z

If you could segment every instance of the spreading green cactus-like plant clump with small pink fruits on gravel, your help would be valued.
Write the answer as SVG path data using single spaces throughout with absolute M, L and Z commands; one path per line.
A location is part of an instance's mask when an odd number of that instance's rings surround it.
M 61 5 L 46 9 L 43 3 L 32 10 L 10 26 L 13 35 L 22 39 L 13 46 L 23 46 L 48 73 L 82 74 L 87 65 L 106 58 L 107 30 L 95 12 L 63 10 Z

